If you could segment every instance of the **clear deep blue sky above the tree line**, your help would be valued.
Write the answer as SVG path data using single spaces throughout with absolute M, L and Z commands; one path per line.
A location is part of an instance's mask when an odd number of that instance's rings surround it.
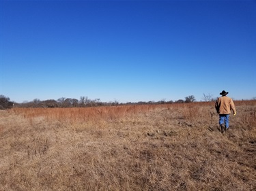
M 0 94 L 256 97 L 256 1 L 0 2 Z

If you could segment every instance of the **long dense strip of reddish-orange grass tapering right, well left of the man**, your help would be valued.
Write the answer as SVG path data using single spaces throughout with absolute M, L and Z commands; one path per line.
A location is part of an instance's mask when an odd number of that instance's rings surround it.
M 170 105 L 123 105 L 109 107 L 72 107 L 72 108 L 13 108 L 12 112 L 33 120 L 44 118 L 51 121 L 66 121 L 69 123 L 100 122 L 102 120 L 118 120 L 125 116 L 134 116 L 139 113 L 149 112 L 159 107 Z

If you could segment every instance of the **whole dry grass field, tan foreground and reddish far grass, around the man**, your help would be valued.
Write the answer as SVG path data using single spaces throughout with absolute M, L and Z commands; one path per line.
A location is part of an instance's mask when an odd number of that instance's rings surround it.
M 256 101 L 0 111 L 0 190 L 256 190 Z

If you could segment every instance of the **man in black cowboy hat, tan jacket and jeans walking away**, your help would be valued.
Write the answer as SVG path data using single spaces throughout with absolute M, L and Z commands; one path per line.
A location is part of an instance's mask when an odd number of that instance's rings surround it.
M 222 97 L 218 97 L 215 108 L 219 114 L 219 124 L 221 126 L 221 133 L 229 129 L 229 115 L 233 111 L 233 115 L 236 116 L 236 107 L 233 103 L 233 100 L 230 97 L 227 97 L 229 92 L 223 90 L 220 94 Z

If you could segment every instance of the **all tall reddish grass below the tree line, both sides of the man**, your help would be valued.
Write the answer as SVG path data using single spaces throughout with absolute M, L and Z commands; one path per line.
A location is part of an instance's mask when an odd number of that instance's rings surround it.
M 250 105 L 250 112 L 240 116 L 244 124 L 255 126 L 256 124 L 256 101 L 235 101 L 236 106 Z M 208 121 L 214 120 L 216 111 L 214 102 L 195 102 L 195 103 L 173 103 L 159 105 L 122 105 L 108 107 L 73 107 L 73 108 L 13 108 L 14 114 L 19 114 L 31 122 L 35 118 L 44 118 L 45 121 L 65 121 L 68 124 L 83 122 L 102 122 L 119 120 L 126 116 L 136 117 L 139 113 L 147 113 L 156 108 L 175 109 L 180 112 L 180 118 L 189 122 L 198 122 L 203 118 Z M 211 108 L 206 109 L 205 108 Z M 253 109 L 254 108 L 254 109 Z M 239 114 L 239 111 L 238 111 Z

